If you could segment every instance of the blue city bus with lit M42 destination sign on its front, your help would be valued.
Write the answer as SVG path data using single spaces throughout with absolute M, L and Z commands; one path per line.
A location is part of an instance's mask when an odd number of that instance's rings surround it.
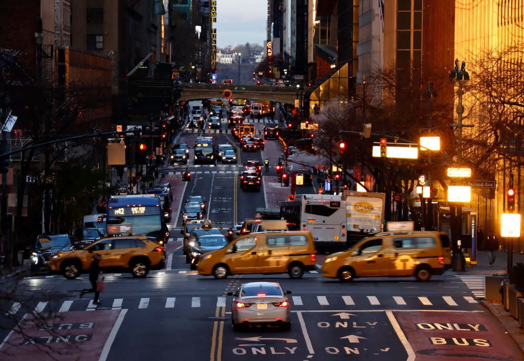
M 112 195 L 107 201 L 106 234 L 153 237 L 165 244 L 169 231 L 158 195 Z

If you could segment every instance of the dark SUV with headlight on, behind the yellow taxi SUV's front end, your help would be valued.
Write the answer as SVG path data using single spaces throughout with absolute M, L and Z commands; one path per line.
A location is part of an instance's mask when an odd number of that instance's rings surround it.
M 31 271 L 49 268 L 49 258 L 74 249 L 73 242 L 67 234 L 40 235 L 31 248 Z

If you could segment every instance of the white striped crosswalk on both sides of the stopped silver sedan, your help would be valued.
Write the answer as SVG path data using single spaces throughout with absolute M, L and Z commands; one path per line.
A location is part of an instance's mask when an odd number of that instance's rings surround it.
M 121 310 L 138 309 L 147 310 L 148 308 L 157 309 L 163 307 L 166 309 L 173 309 L 176 307 L 198 309 L 202 307 L 226 307 L 228 305 L 228 298 L 220 297 L 167 297 L 167 298 L 132 298 L 132 299 L 107 299 L 101 298 L 102 305 L 94 305 L 91 300 L 77 299 L 64 300 L 59 307 L 55 302 L 38 302 L 32 308 L 22 307 L 20 303 L 14 303 L 6 314 L 15 315 L 17 313 L 27 313 L 27 310 L 32 309 L 32 312 L 70 312 L 70 311 L 94 311 L 96 309 L 113 309 Z M 473 297 L 463 296 L 360 296 L 355 299 L 352 296 L 292 296 L 290 302 L 295 307 L 333 307 L 346 308 L 352 307 L 411 307 L 420 309 L 425 307 L 453 307 L 460 308 L 460 305 L 467 303 L 478 303 Z M 57 309 L 58 308 L 58 309 Z

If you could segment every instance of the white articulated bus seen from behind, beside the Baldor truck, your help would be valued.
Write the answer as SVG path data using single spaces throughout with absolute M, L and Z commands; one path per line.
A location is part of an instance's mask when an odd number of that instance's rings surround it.
M 347 248 L 346 201 L 340 195 L 297 194 L 294 201 L 282 202 L 280 217 L 290 231 L 309 231 L 317 251 Z

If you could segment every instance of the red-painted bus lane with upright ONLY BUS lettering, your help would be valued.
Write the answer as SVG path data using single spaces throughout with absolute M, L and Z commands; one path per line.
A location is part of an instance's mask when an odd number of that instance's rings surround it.
M 485 311 L 392 311 L 417 360 L 516 360 L 511 338 Z

